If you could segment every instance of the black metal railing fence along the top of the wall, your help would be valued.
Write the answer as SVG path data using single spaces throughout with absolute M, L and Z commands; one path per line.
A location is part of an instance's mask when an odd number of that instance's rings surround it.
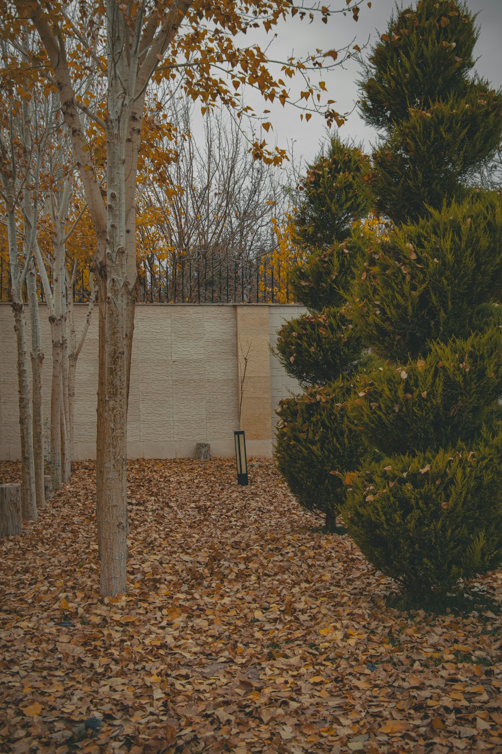
M 150 255 L 138 264 L 138 302 L 160 304 L 278 304 L 293 303 L 291 268 L 301 256 L 281 259 L 277 250 L 253 258 L 221 254 L 172 252 L 163 259 Z M 70 265 L 71 266 L 71 265 Z M 52 283 L 50 277 L 50 283 Z M 0 259 L 0 301 L 9 300 L 11 276 Z M 38 280 L 39 300 L 44 291 Z M 78 268 L 73 300 L 90 298 L 89 270 Z

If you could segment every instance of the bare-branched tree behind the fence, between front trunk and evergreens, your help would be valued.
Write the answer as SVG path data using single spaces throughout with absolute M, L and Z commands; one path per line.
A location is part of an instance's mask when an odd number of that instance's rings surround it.
M 192 135 L 186 99 L 167 112 L 171 130 L 159 149 L 171 149 L 172 161 L 160 164 L 156 153 L 145 159 L 150 179 L 140 191 L 157 215 L 166 248 L 223 259 L 269 249 L 270 221 L 283 195 L 277 169 L 252 158 L 239 124 L 223 112 L 205 115 L 202 139 Z

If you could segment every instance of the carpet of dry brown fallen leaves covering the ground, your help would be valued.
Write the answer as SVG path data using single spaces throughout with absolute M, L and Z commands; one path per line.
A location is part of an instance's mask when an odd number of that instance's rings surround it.
M 0 541 L 2 754 L 502 752 L 500 618 L 389 608 L 392 584 L 312 530 L 272 461 L 248 487 L 233 461 L 129 462 L 117 599 L 93 507 L 84 462 Z M 500 574 L 478 587 L 502 599 Z

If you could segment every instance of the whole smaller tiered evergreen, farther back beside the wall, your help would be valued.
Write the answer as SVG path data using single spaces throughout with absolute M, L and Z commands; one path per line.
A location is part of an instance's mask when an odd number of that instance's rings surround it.
M 277 344 L 284 369 L 305 388 L 278 409 L 278 468 L 300 505 L 324 513 L 328 532 L 336 528 L 345 471 L 367 452 L 346 415 L 362 344 L 343 292 L 364 254 L 364 231 L 351 225 L 368 211 L 368 170 L 361 150 L 338 138 L 309 166 L 296 225 L 309 259 L 291 280 L 295 299 L 309 314 L 285 323 Z

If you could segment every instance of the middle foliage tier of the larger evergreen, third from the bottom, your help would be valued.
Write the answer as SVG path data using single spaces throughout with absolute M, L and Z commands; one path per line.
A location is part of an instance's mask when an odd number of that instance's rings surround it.
M 430 341 L 469 335 L 476 310 L 500 293 L 502 197 L 492 192 L 392 233 L 360 265 L 351 305 L 367 344 L 402 363 Z

